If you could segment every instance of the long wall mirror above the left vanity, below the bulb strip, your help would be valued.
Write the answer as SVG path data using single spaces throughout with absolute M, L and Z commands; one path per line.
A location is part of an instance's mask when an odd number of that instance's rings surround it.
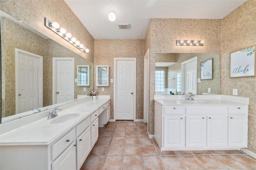
M 66 47 L 49 39 L 28 25 L 0 11 L 1 19 L 1 123 L 18 119 L 46 109 L 78 100 L 86 95 L 84 86 L 77 86 L 77 66 L 90 68 L 90 81 L 86 88 L 93 87 L 94 64 Z M 56 62 L 54 62 L 56 61 Z M 26 63 L 28 62 L 28 63 Z M 71 96 L 58 100 L 62 88 L 58 64 L 71 63 L 74 86 Z M 53 66 L 53 63 L 56 63 Z M 61 70 L 60 70 L 61 72 Z M 56 74 L 57 76 L 54 76 Z M 56 77 L 56 78 L 53 78 Z M 89 79 L 89 78 L 88 78 Z M 31 97 L 24 97 L 34 91 Z M 31 110 L 33 107 L 39 108 Z

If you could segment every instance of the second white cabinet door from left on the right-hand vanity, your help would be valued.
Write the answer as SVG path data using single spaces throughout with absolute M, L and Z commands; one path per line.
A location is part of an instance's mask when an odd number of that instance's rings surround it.
M 206 147 L 206 116 L 186 116 L 186 147 Z

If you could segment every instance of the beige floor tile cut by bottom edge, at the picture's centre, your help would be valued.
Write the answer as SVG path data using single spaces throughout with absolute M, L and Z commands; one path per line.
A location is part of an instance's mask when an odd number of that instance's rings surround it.
M 123 170 L 143 170 L 140 156 L 124 156 Z

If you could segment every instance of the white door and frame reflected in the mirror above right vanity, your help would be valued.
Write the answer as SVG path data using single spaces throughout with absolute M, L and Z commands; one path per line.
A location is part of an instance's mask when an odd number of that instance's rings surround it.
M 197 57 L 182 63 L 182 93 L 197 94 Z

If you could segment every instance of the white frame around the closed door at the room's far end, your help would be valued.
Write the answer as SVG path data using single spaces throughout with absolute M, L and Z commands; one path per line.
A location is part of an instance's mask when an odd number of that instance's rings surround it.
M 134 103 L 133 103 L 133 121 L 136 121 L 136 58 L 114 58 L 114 121 L 116 121 L 116 110 L 117 110 L 117 104 L 116 104 L 116 62 L 117 61 L 133 61 L 134 62 Z

